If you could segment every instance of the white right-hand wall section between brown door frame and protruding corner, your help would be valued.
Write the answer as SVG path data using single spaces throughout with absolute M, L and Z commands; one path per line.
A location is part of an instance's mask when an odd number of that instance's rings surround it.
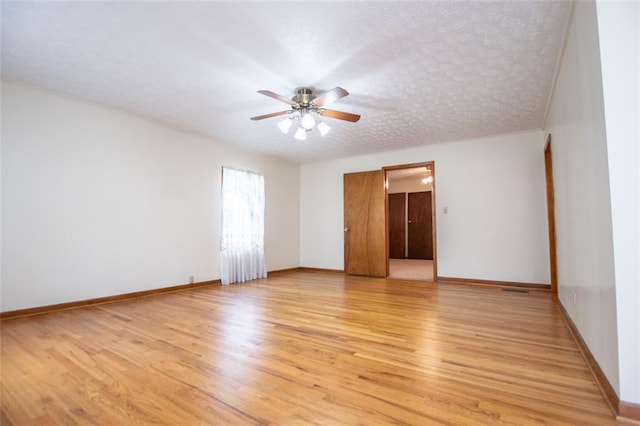
M 559 298 L 618 391 L 611 195 L 593 2 L 575 5 L 546 128 L 552 137 Z

